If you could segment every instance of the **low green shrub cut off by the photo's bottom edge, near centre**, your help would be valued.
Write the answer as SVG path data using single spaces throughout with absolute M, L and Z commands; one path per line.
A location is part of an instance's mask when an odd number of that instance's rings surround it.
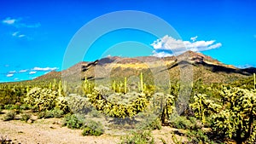
M 133 131 L 131 135 L 121 138 L 119 144 L 153 144 L 154 137 L 148 130 Z

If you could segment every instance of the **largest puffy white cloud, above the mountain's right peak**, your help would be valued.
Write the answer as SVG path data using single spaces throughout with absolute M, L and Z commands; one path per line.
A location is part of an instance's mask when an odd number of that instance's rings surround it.
M 197 36 L 191 37 L 190 39 L 193 42 L 190 41 L 183 41 L 180 39 L 175 39 L 173 37 L 169 37 L 166 35 L 165 37 L 162 37 L 160 39 L 157 39 L 154 41 L 154 43 L 151 44 L 153 46 L 154 56 L 164 57 L 169 55 L 179 55 L 187 50 L 200 52 L 205 51 L 209 49 L 217 49 L 222 46 L 221 43 L 215 43 L 215 40 L 210 41 L 196 41 Z

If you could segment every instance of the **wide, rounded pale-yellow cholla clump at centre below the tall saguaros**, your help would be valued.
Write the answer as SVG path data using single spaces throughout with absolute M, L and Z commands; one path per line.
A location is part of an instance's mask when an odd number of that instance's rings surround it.
M 111 93 L 106 87 L 99 86 L 87 97 L 93 107 L 110 117 L 132 117 L 148 106 L 147 96 L 143 93 Z

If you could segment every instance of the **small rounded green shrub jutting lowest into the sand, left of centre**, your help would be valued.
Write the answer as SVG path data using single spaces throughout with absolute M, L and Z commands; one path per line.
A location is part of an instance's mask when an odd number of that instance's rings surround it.
M 99 136 L 104 133 L 103 126 L 101 123 L 90 120 L 84 124 L 84 130 L 82 135 L 95 135 Z

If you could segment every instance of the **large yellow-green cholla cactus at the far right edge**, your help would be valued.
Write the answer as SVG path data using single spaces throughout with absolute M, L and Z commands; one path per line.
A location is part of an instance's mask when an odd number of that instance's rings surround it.
M 237 143 L 248 143 L 255 140 L 255 90 L 224 88 L 221 96 L 223 110 L 212 114 L 212 130 Z

